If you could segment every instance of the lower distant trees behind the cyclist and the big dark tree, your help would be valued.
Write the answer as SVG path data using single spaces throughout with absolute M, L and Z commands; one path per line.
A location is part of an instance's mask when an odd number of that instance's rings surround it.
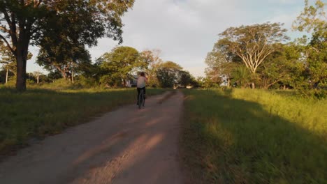
M 153 87 L 172 88 L 173 86 L 198 86 L 196 79 L 181 66 L 173 61 L 163 61 L 161 51 L 147 49 L 138 52 L 137 49 L 127 46 L 118 46 L 110 52 L 104 53 L 95 63 L 92 63 L 89 54 L 78 56 L 80 60 L 73 62 L 67 56 L 66 61 L 50 62 L 51 57 L 41 49 L 36 63 L 48 70 L 48 75 L 42 72 L 27 73 L 27 84 L 52 83 L 64 79 L 71 84 L 82 86 L 126 87 L 130 81 L 135 81 L 140 72 L 145 72 L 148 85 Z M 81 54 L 81 53 L 78 53 Z M 6 58 L 6 57 L 4 57 Z M 6 61 L 2 59 L 2 61 Z M 15 59 L 4 64 L 0 70 L 0 82 L 6 78 L 10 84 L 15 82 Z M 10 66 L 13 65 L 13 66 Z M 8 75 L 7 74 L 7 69 Z

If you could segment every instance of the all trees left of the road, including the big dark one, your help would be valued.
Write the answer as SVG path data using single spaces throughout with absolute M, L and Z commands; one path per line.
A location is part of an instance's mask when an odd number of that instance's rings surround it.
M 145 71 L 150 86 L 194 85 L 189 72 L 172 61 L 162 61 L 159 50 L 138 52 L 132 47 L 115 47 L 92 63 L 87 47 L 98 38 L 122 43 L 121 17 L 133 0 L 104 1 L 0 1 L 0 83 L 27 84 L 58 79 L 88 86 L 126 86 Z M 27 73 L 29 45 L 40 48 L 36 63 L 48 70 Z

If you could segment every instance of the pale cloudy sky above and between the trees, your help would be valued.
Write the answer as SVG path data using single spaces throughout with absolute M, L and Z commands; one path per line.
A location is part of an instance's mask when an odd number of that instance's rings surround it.
M 123 46 L 160 49 L 163 61 L 173 61 L 192 75 L 205 76 L 205 56 L 218 40 L 218 34 L 230 26 L 282 22 L 291 24 L 304 8 L 304 0 L 136 0 L 132 10 L 122 18 Z M 296 38 L 300 33 L 289 31 Z M 117 46 L 108 38 L 89 49 L 94 61 Z M 43 71 L 34 54 L 27 72 Z

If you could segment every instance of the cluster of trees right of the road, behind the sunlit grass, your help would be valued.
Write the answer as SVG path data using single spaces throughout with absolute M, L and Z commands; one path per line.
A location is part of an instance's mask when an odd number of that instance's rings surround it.
M 312 36 L 292 42 L 280 23 L 231 27 L 219 34 L 205 63 L 206 81 L 212 85 L 262 89 L 327 88 L 326 3 L 316 1 L 305 8 L 293 29 Z

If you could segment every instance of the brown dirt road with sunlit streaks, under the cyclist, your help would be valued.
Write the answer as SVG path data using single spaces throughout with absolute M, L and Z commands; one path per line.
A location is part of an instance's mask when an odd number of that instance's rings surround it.
M 182 93 L 129 105 L 48 137 L 0 163 L 0 183 L 183 183 Z

